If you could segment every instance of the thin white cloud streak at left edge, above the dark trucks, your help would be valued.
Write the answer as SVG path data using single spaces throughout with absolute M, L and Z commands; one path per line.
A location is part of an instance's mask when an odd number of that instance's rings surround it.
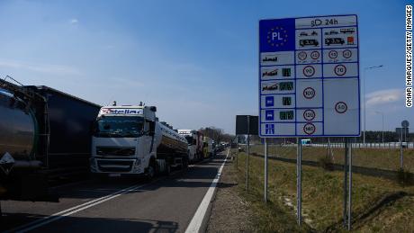
M 8 67 L 14 69 L 26 69 L 40 73 L 58 74 L 58 75 L 80 75 L 80 72 L 74 67 L 50 65 L 50 64 L 36 64 L 20 61 L 0 60 L 0 67 Z

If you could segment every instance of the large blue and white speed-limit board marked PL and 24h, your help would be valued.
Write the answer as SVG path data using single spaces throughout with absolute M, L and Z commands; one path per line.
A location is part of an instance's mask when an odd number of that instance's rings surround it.
M 360 135 L 356 14 L 259 22 L 259 136 Z

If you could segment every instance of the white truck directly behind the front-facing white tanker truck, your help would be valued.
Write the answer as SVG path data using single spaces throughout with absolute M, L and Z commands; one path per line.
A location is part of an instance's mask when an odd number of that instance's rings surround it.
M 202 159 L 202 132 L 199 130 L 178 130 L 187 140 L 190 163 Z

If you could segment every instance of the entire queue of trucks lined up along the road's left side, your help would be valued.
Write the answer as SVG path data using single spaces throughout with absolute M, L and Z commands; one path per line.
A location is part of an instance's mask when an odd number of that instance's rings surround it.
M 0 200 L 35 201 L 50 179 L 168 174 L 211 157 L 200 130 L 174 130 L 155 106 L 100 106 L 47 86 L 0 80 Z

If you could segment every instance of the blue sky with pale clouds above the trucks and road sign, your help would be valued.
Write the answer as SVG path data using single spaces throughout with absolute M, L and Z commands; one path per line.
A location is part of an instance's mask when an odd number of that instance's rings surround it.
M 285 3 L 284 3 L 285 2 Z M 367 130 L 414 124 L 405 108 L 409 1 L 0 1 L 0 76 L 88 101 L 157 105 L 178 129 L 234 133 L 258 113 L 258 21 L 356 13 Z M 363 74 L 361 74 L 363 75 Z M 363 77 L 364 78 L 364 77 Z

